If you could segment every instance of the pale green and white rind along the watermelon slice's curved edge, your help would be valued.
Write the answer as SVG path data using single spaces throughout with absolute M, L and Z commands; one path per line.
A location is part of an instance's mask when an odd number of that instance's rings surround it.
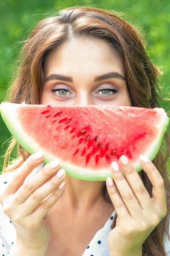
M 18 104 L 20 105 L 20 104 Z M 37 143 L 34 143 L 33 140 L 28 137 L 19 122 L 15 118 L 15 109 L 17 108 L 17 104 L 12 104 L 10 102 L 2 102 L 0 104 L 0 113 L 5 122 L 8 130 L 11 132 L 13 137 L 17 140 L 17 142 L 30 154 L 34 154 L 38 151 L 42 151 L 44 153 L 43 162 L 49 163 L 53 160 L 58 159 L 60 167 L 59 169 L 65 169 L 66 175 L 77 178 L 80 180 L 87 181 L 104 181 L 107 178 L 112 176 L 111 168 L 102 169 L 97 171 L 91 171 L 85 168 L 79 168 L 73 164 L 67 163 L 59 158 L 56 158 L 54 155 L 49 154 L 47 151 L 42 149 Z M 161 147 L 161 143 L 164 137 L 164 133 L 167 131 L 167 126 L 169 124 L 169 117 L 165 113 L 164 109 L 159 108 L 162 111 L 163 118 L 161 119 L 162 126 L 160 126 L 160 134 L 158 135 L 158 140 L 155 140 L 153 145 L 149 147 L 149 151 L 145 153 L 145 156 L 148 157 L 151 161 L 156 157 L 159 152 L 159 148 Z M 136 169 L 136 172 L 142 170 L 139 160 L 136 163 L 133 163 L 133 167 Z M 125 176 L 125 175 L 124 175 Z

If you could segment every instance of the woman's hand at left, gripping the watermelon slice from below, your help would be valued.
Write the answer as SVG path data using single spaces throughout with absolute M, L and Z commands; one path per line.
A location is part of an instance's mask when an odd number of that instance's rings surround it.
M 24 183 L 30 172 L 43 160 L 43 155 L 36 160 L 38 153 L 28 157 L 17 169 L 16 174 L 0 195 L 3 212 L 10 218 L 16 229 L 17 244 L 23 244 L 32 249 L 48 246 L 51 227 L 45 217 L 62 195 L 65 189 L 63 180 L 66 176 L 64 173 L 62 177 L 57 177 L 59 162 L 55 160 L 46 164 Z M 52 163 L 57 162 L 54 168 Z M 62 181 L 64 186 L 59 189 Z

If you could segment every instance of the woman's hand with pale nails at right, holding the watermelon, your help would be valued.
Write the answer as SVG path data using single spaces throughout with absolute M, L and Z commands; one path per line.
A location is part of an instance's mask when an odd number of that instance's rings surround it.
M 116 162 L 111 165 L 113 186 L 106 182 L 118 216 L 116 227 L 109 233 L 108 244 L 113 255 L 128 255 L 128 252 L 131 255 L 134 250 L 142 251 L 144 241 L 167 214 L 166 194 L 164 180 L 150 160 L 144 163 L 140 159 L 140 164 L 153 185 L 152 198 L 129 159 L 121 156 L 119 163 L 121 170 Z

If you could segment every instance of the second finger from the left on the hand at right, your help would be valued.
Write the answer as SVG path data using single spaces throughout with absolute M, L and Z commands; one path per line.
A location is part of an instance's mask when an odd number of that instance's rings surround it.
M 113 163 L 111 164 L 111 172 L 112 172 L 116 187 L 119 191 L 119 194 L 121 195 L 121 197 L 125 203 L 125 206 L 127 207 L 128 211 L 130 212 L 131 217 L 134 219 L 139 218 L 139 216 L 142 217 L 143 210 L 142 210 L 141 206 L 139 205 L 139 202 L 136 199 L 135 195 L 133 194 L 133 191 L 130 188 L 127 180 L 125 179 L 121 170 L 119 169 L 119 166 L 116 163 L 116 161 L 113 161 Z

